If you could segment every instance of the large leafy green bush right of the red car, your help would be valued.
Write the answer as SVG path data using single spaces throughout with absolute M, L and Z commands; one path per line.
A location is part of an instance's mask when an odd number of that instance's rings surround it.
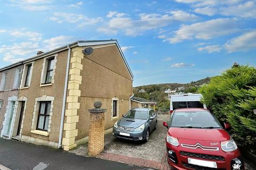
M 213 77 L 199 89 L 203 102 L 221 121 L 231 124 L 238 145 L 256 150 L 256 69 L 237 66 Z

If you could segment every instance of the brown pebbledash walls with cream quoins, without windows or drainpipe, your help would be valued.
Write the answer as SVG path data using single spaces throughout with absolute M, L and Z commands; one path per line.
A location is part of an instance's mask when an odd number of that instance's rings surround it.
M 94 101 L 100 100 L 102 107 L 107 108 L 105 129 L 113 127 L 118 118 L 129 111 L 133 80 L 133 75 L 116 40 L 83 41 L 81 43 L 77 41 L 77 44 L 70 44 L 70 46 L 68 89 L 61 143 L 64 150 L 70 150 L 87 142 L 90 115 L 88 109 L 93 108 Z M 87 47 L 94 49 L 92 54 L 84 55 L 83 49 Z M 20 140 L 57 148 L 68 49 L 51 54 L 23 63 L 24 69 L 17 100 L 26 100 Z M 43 84 L 47 57 L 54 57 L 54 76 L 52 83 Z M 28 64 L 31 64 L 31 79 L 28 87 L 24 87 Z M 113 116 L 113 100 L 117 101 L 115 117 Z M 41 101 L 51 103 L 47 131 L 36 128 Z

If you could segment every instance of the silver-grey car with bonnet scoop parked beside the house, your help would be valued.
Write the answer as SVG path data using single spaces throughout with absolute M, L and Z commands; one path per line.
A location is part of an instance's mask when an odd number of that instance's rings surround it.
M 145 141 L 157 128 L 157 114 L 150 108 L 133 108 L 114 124 L 113 135 L 116 138 Z

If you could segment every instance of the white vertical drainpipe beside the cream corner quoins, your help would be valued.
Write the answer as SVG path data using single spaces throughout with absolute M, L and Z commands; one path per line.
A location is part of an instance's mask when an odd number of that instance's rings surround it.
M 71 52 L 71 49 L 70 49 L 69 45 L 67 46 L 67 48 L 68 48 L 68 60 L 67 60 L 65 87 L 64 87 L 64 93 L 63 93 L 63 102 L 62 102 L 62 111 L 61 111 L 61 122 L 60 122 L 60 135 L 59 135 L 58 148 L 61 147 L 61 139 L 62 139 L 62 131 L 63 131 L 63 122 L 64 122 L 64 116 L 65 116 L 65 107 L 66 107 L 66 96 L 67 96 L 67 88 L 68 88 L 68 71 L 69 71 L 69 63 L 70 63 L 70 52 Z

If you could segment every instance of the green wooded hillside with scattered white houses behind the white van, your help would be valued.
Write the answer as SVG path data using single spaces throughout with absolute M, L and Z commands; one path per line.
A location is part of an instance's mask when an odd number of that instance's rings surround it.
M 198 88 L 203 84 L 210 82 L 209 77 L 205 79 L 201 79 L 198 81 L 192 81 L 190 83 L 182 84 L 182 83 L 163 83 L 163 84 L 150 84 L 145 86 L 138 86 L 133 88 L 133 94 L 136 97 L 141 97 L 145 99 L 149 99 L 152 101 L 156 101 L 157 109 L 161 110 L 169 110 L 170 109 L 170 100 L 168 99 L 168 95 L 164 92 L 165 89 L 175 90 L 179 87 L 183 87 L 180 92 L 197 92 Z M 139 92 L 139 90 L 144 89 L 145 92 Z

